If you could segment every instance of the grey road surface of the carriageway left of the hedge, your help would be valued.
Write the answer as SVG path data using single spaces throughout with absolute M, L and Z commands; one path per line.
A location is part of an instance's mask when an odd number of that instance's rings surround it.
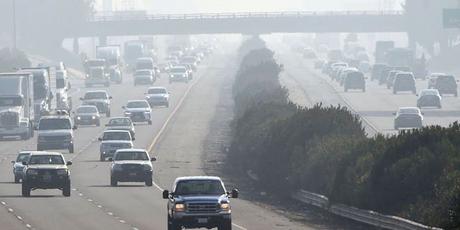
M 64 152 L 72 160 L 72 195 L 63 197 L 59 190 L 35 190 L 32 197 L 21 196 L 21 185 L 14 184 L 10 161 L 20 150 L 34 150 L 35 138 L 28 141 L 0 142 L 0 229 L 166 229 L 166 201 L 163 189 L 170 189 L 178 176 L 206 175 L 209 165 L 203 154 L 203 143 L 210 123 L 219 109 L 223 92 L 231 92 L 232 77 L 237 70 L 238 44 L 216 51 L 199 67 L 194 80 L 188 84 L 169 85 L 167 78 L 155 85 L 165 85 L 171 92 L 169 108 L 154 108 L 153 124 L 136 126 L 135 147 L 149 149 L 154 162 L 154 185 L 140 183 L 109 185 L 109 162 L 99 161 L 101 127 L 79 127 L 75 133 L 76 153 Z M 222 50 L 231 51 L 223 52 Z M 72 76 L 74 108 L 78 98 L 87 90 L 81 75 Z M 95 89 L 95 88 L 91 88 Z M 125 75 L 122 85 L 112 85 L 112 116 L 121 116 L 130 99 L 141 99 L 147 86 L 133 86 Z M 227 90 L 224 90 L 227 89 Z M 229 96 L 229 95 L 227 95 Z M 107 122 L 103 118 L 102 124 Z M 206 163 L 208 162 L 208 163 Z M 229 181 L 228 185 L 233 185 Z M 227 189 L 232 189 L 228 187 Z M 233 229 L 318 229 L 317 224 L 293 221 L 280 211 L 267 208 L 245 198 L 233 200 Z M 322 226 L 321 229 L 326 227 Z M 336 229 L 336 228 L 335 228 Z

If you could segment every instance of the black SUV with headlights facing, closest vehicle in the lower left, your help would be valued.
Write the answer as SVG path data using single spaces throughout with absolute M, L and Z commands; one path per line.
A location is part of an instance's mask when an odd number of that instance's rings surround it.
M 60 189 L 62 195 L 70 196 L 70 172 L 61 153 L 32 152 L 25 166 L 22 180 L 22 196 L 29 197 L 35 189 Z

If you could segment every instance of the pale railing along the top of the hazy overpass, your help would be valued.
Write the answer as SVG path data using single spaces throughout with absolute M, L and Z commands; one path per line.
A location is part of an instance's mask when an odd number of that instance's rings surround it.
M 91 21 L 132 20 L 193 20 L 193 19 L 241 19 L 241 18 L 292 18 L 308 16 L 398 16 L 403 11 L 284 11 L 284 12 L 236 12 L 197 14 L 148 14 L 146 11 L 97 12 Z

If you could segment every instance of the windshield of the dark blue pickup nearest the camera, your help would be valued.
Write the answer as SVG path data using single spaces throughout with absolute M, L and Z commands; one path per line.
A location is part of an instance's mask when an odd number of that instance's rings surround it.
M 183 180 L 176 185 L 174 195 L 222 195 L 225 190 L 218 180 Z

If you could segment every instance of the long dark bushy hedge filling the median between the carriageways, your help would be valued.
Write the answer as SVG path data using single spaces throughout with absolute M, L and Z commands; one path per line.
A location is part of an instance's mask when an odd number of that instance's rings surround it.
M 229 160 L 265 189 L 297 189 L 424 224 L 460 229 L 460 125 L 366 137 L 341 106 L 311 108 L 288 99 L 282 67 L 263 41 L 240 49 L 233 86 L 235 119 Z

